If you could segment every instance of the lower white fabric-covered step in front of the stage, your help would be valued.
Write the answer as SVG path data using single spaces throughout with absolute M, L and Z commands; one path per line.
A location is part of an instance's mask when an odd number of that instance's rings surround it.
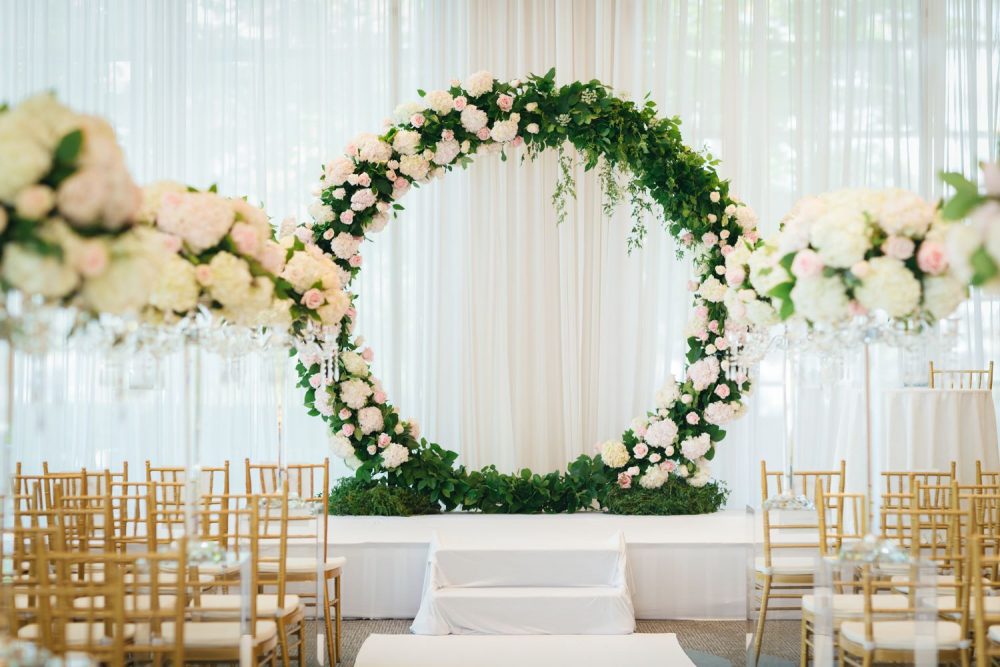
M 411 630 L 422 635 L 614 635 L 635 631 L 623 586 L 439 588 Z

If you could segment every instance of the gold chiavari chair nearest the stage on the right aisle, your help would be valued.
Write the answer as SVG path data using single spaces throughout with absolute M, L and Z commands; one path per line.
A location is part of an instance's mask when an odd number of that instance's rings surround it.
M 841 494 L 844 492 L 846 464 L 840 462 L 836 470 L 802 471 L 793 474 L 795 491 L 807 498 L 815 498 L 817 490 Z M 761 461 L 761 500 L 766 502 L 772 494 L 784 491 L 783 475 L 768 471 Z M 831 501 L 834 502 L 834 501 Z M 843 507 L 833 508 L 835 525 L 843 526 Z M 763 520 L 764 553 L 754 563 L 754 593 L 757 602 L 757 628 L 754 635 L 754 661 L 760 660 L 764 624 L 771 609 L 799 609 L 803 594 L 813 586 L 816 560 L 819 555 L 818 512 L 796 512 L 786 521 L 783 512 L 761 511 Z M 791 539 L 783 539 L 789 537 Z M 793 553 L 794 555 L 782 555 Z M 775 603 L 781 602 L 780 606 Z M 772 604 L 775 606 L 772 607 Z

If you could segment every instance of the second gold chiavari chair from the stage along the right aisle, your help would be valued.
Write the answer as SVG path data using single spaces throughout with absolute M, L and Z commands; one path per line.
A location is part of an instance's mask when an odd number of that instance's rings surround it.
M 860 540 L 868 532 L 866 520 L 865 495 L 862 493 L 828 493 L 820 485 L 816 489 L 816 509 L 819 519 L 819 552 L 820 558 L 836 558 L 841 547 Z M 836 568 L 830 568 L 831 577 L 841 576 Z M 859 619 L 864 613 L 864 595 L 855 592 L 856 586 L 851 581 L 828 582 L 833 596 L 829 601 L 832 630 L 836 637 L 841 623 L 847 620 Z M 878 595 L 873 606 L 880 613 L 901 616 L 907 608 L 907 598 L 901 594 Z M 810 655 L 815 646 L 813 636 L 816 630 L 817 608 L 816 596 L 802 596 L 802 621 L 800 630 L 800 665 L 809 664 Z

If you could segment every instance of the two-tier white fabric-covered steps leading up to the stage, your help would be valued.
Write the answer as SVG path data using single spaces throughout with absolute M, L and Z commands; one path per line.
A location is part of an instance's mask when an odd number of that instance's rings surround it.
M 427 559 L 414 634 L 628 634 L 635 610 L 621 533 L 573 539 L 441 538 Z

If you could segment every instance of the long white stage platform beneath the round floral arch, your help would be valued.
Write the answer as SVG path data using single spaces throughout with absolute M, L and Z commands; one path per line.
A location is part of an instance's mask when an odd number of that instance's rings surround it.
M 414 618 L 435 533 L 489 545 L 538 535 L 570 546 L 621 532 L 639 619 L 745 619 L 752 527 L 741 511 L 701 516 L 600 513 L 426 517 L 329 517 L 331 553 L 347 558 L 348 618 Z M 307 547 L 304 547 L 307 548 Z M 294 547 L 292 547 L 294 550 Z

